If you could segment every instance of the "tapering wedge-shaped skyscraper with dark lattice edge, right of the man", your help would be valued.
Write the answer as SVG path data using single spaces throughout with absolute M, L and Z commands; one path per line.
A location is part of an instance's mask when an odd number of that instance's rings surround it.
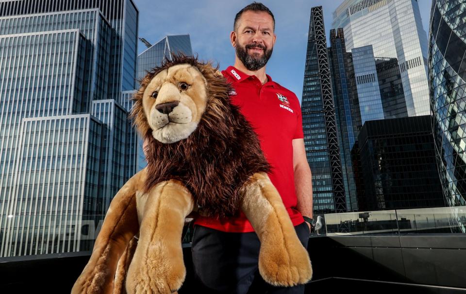
M 322 7 L 311 9 L 302 90 L 302 125 L 315 213 L 346 212 Z

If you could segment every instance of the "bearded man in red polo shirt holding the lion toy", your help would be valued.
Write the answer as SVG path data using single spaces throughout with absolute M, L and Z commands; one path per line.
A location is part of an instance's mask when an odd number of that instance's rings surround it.
M 272 166 L 269 177 L 307 248 L 312 219 L 311 170 L 298 98 L 266 74 L 276 40 L 274 27 L 273 14 L 262 3 L 254 2 L 238 12 L 230 34 L 235 63 L 222 73 L 235 89 L 230 96 L 232 103 L 240 107 L 259 136 Z M 246 294 L 255 279 L 254 285 L 267 288 L 268 293 L 304 293 L 304 285 L 272 287 L 261 280 L 259 248 L 257 235 L 244 214 L 220 220 L 199 217 L 195 221 L 194 270 L 210 291 Z

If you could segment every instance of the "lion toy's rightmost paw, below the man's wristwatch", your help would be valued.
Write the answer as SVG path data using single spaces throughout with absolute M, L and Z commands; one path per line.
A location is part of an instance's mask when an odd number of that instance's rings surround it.
M 312 278 L 309 255 L 297 242 L 261 245 L 259 272 L 267 283 L 289 287 L 305 284 Z

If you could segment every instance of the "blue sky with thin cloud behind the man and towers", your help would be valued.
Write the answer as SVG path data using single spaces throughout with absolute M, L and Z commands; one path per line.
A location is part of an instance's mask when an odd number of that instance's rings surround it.
M 189 34 L 200 59 L 225 69 L 234 62 L 229 36 L 236 13 L 252 1 L 134 0 L 139 9 L 139 36 L 154 44 L 165 35 Z M 295 92 L 301 100 L 311 7 L 321 5 L 327 38 L 332 13 L 342 0 L 264 0 L 275 17 L 275 43 L 266 71 L 272 79 Z M 422 23 L 428 32 L 431 0 L 419 0 Z M 138 52 L 146 46 L 138 43 Z

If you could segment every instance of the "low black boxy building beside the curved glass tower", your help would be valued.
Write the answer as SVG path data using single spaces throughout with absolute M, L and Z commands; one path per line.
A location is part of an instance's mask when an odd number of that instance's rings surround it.
M 445 206 L 430 116 L 366 121 L 358 144 L 361 211 Z

